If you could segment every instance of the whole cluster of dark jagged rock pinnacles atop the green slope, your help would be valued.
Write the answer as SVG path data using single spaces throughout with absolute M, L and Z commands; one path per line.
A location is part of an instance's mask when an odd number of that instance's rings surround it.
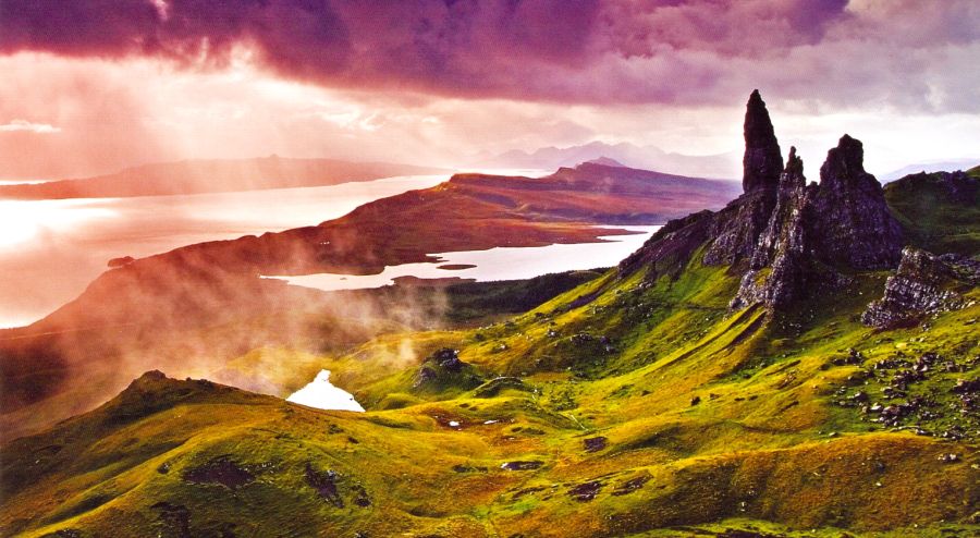
M 644 248 L 624 260 L 653 276 L 683 268 L 705 245 L 702 262 L 743 272 L 733 308 L 788 306 L 813 286 L 846 280 L 840 271 L 895 267 L 902 229 L 889 212 L 881 184 L 865 171 L 859 140 L 844 135 L 828 151 L 819 184 L 807 185 L 803 160 L 780 146 L 758 90 L 745 117 L 745 193 L 718 212 L 671 221 Z M 667 270 L 669 269 L 669 270 Z

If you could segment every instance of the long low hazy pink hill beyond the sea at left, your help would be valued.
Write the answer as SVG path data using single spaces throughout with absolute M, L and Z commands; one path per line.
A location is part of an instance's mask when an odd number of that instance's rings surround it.
M 127 168 L 114 174 L 48 183 L 0 185 L 0 198 L 115 198 L 311 187 L 394 175 L 448 172 L 431 167 L 336 159 L 184 160 Z

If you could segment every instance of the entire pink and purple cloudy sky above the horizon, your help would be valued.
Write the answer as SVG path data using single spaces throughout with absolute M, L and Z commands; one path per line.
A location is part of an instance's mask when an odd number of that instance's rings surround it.
M 0 179 L 740 152 L 754 88 L 812 179 L 844 133 L 883 174 L 980 157 L 978 61 L 975 0 L 0 0 Z

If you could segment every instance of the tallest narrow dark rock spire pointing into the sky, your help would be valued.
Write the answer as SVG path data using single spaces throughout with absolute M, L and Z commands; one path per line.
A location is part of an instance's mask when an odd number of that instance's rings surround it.
M 745 110 L 745 157 L 742 159 L 742 188 L 752 192 L 758 188 L 775 188 L 783 172 L 783 155 L 776 140 L 765 109 L 765 101 L 759 90 L 749 96 Z

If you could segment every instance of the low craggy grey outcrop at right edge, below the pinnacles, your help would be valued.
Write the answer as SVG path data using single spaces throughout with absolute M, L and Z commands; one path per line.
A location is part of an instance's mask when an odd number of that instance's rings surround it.
M 879 329 L 915 326 L 927 316 L 967 306 L 960 291 L 978 284 L 980 261 L 907 247 L 884 296 L 868 305 L 861 321 Z

